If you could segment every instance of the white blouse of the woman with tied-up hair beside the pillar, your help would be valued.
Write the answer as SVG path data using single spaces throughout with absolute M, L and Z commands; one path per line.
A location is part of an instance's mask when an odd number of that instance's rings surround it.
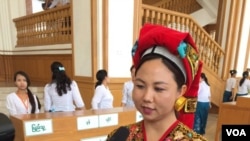
M 104 85 L 99 85 L 95 89 L 94 96 L 92 98 L 92 109 L 107 109 L 113 108 L 113 95 L 110 90 Z

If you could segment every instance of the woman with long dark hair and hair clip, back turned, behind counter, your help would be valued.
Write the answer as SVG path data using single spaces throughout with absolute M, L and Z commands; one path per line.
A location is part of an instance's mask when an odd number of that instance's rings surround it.
M 60 62 L 51 64 L 52 81 L 44 88 L 45 112 L 85 109 L 77 83 L 71 80 Z

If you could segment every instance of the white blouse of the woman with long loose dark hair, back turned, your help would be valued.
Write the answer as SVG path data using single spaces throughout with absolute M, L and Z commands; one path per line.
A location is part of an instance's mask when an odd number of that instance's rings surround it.
M 56 90 L 56 83 L 46 84 L 44 88 L 44 110 L 75 111 L 75 105 L 78 108 L 84 107 L 77 83 L 72 81 L 70 87 L 71 90 L 59 96 Z

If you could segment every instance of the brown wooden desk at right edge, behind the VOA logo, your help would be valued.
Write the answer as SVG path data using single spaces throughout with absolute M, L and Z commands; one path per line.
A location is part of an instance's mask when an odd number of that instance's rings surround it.
M 250 124 L 250 96 L 237 97 L 237 102 L 220 104 L 215 141 L 221 140 L 221 128 L 226 124 Z

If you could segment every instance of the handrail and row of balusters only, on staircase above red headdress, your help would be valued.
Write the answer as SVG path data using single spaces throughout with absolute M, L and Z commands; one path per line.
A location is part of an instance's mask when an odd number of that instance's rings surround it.
M 178 31 L 189 32 L 197 44 L 201 60 L 215 74 L 219 74 L 224 51 L 189 15 L 142 4 L 141 18 L 142 25 L 160 24 Z

